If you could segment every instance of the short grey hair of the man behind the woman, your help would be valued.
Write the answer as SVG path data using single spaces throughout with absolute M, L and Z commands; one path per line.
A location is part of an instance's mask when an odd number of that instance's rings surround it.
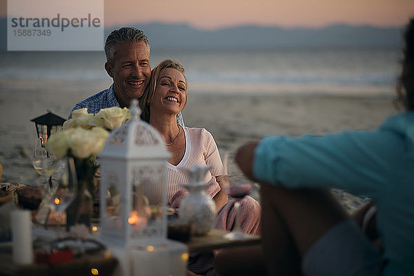
M 144 34 L 143 31 L 138 30 L 133 27 L 123 27 L 118 30 L 112 30 L 105 42 L 105 55 L 106 61 L 110 63 L 111 66 L 114 64 L 115 59 L 115 44 L 116 43 L 135 43 L 144 41 L 146 46 L 148 46 L 148 54 L 150 52 L 150 43 L 148 42 L 148 37 Z

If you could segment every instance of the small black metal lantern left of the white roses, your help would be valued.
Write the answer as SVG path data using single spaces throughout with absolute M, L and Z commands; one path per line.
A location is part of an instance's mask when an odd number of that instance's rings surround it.
M 48 110 L 48 113 L 45 115 L 41 115 L 37 118 L 31 119 L 30 121 L 34 121 L 34 124 L 36 125 L 37 137 L 39 137 L 41 146 L 43 147 L 51 135 L 61 130 L 61 127 L 66 119 L 63 119 Z

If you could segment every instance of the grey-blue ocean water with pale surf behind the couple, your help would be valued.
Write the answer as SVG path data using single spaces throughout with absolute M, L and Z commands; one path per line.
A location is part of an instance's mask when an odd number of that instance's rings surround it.
M 397 48 L 152 49 L 186 67 L 189 92 L 378 95 L 393 91 Z M 0 52 L 0 81 L 110 83 L 103 52 Z

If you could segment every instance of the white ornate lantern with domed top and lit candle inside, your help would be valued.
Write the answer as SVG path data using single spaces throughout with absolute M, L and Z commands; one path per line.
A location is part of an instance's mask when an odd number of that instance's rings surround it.
M 159 132 L 139 118 L 137 100 L 130 112 L 131 119 L 112 130 L 99 154 L 101 239 L 116 246 L 156 244 L 167 236 L 170 152 Z

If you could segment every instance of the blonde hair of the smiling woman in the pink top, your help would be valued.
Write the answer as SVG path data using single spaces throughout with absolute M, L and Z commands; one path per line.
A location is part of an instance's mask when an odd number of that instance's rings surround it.
M 142 110 L 141 119 L 143 119 L 144 121 L 150 121 L 150 103 L 154 98 L 155 88 L 157 88 L 159 77 L 161 77 L 162 73 L 166 68 L 172 68 L 181 72 L 181 74 L 184 76 L 184 79 L 186 79 L 186 92 L 188 90 L 188 81 L 186 75 L 184 75 L 186 72 L 184 66 L 179 61 L 175 61 L 173 59 L 164 59 L 164 61 L 161 61 L 157 66 L 155 66 L 154 69 L 152 69 L 150 83 L 148 83 L 144 95 L 142 95 L 142 97 L 139 98 L 139 107 Z M 187 97 L 184 106 L 186 106 L 186 104 Z

